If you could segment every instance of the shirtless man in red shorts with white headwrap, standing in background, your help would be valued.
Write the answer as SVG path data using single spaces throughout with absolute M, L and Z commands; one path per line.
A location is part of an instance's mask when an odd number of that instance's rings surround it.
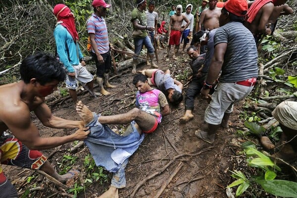
M 169 38 L 167 54 L 164 57 L 169 56 L 171 45 L 175 45 L 174 55 L 172 56 L 172 58 L 177 59 L 176 56 L 178 53 L 182 32 L 190 25 L 189 19 L 185 15 L 183 15 L 182 12 L 183 12 L 182 5 L 177 5 L 176 14 L 170 17 L 170 24 L 168 28 L 170 38 Z M 185 20 L 187 24 L 185 25 L 185 27 L 182 28 L 183 20 Z

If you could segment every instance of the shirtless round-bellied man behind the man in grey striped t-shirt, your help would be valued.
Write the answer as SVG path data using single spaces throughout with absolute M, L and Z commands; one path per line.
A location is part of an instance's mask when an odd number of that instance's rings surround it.
M 209 0 L 209 8 L 201 12 L 198 23 L 198 31 L 207 29 L 212 30 L 219 27 L 221 8 L 216 7 L 217 2 L 217 0 Z

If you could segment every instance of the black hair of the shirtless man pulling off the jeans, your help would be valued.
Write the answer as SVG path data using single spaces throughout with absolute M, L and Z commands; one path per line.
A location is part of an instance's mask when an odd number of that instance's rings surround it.
M 41 85 L 53 80 L 61 82 L 66 78 L 63 63 L 54 55 L 45 52 L 27 56 L 20 65 L 20 74 L 25 84 L 30 83 L 32 78 L 36 78 Z

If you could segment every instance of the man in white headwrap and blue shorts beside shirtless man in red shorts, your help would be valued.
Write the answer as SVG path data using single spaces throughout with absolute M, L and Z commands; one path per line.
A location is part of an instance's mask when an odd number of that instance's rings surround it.
M 192 37 L 192 32 L 193 32 L 193 25 L 194 25 L 194 15 L 191 13 L 193 9 L 192 4 L 188 4 L 186 7 L 186 12 L 183 13 L 189 21 L 190 25 L 185 29 L 185 31 L 182 33 L 182 41 L 184 41 L 184 46 L 183 46 L 183 51 L 186 49 L 187 44 L 190 42 L 190 39 Z M 185 26 L 187 23 L 186 21 L 183 20 L 182 27 Z

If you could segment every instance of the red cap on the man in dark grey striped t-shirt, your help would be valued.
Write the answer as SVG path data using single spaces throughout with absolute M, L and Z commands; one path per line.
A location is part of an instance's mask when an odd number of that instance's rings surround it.
M 247 14 L 247 0 L 227 0 L 224 7 L 236 16 L 246 16 Z

